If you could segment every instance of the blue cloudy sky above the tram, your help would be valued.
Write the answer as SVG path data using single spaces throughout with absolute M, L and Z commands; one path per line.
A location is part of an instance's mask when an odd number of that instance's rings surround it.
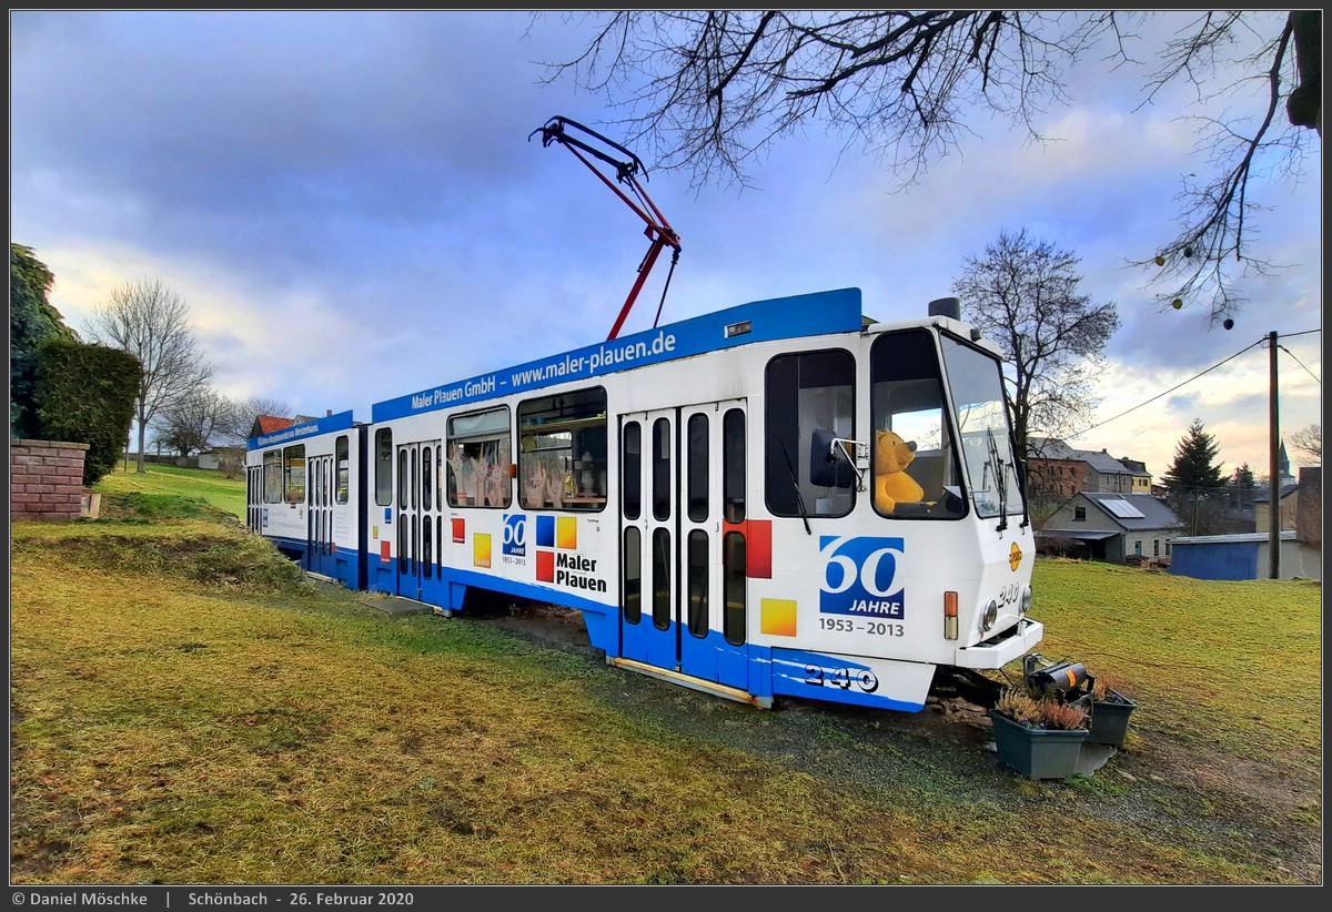
M 116 286 L 161 281 L 226 395 L 369 419 L 374 402 L 598 342 L 647 249 L 622 202 L 530 137 L 554 114 L 614 136 L 606 99 L 541 84 L 539 61 L 581 49 L 586 25 L 11 11 L 9 27 L 11 240 L 51 268 L 52 302 L 80 332 Z M 1026 228 L 1080 257 L 1082 290 L 1123 321 L 1098 418 L 1071 443 L 1160 477 L 1196 418 L 1225 473 L 1267 474 L 1268 351 L 1252 343 L 1281 337 L 1283 434 L 1321 422 L 1321 145 L 1304 182 L 1255 188 L 1272 206 L 1257 244 L 1288 269 L 1237 284 L 1251 302 L 1236 326 L 1162 312 L 1162 289 L 1124 264 L 1173 236 L 1180 176 L 1207 162 L 1183 89 L 1135 111 L 1147 72 L 1092 59 L 1040 122 L 1058 142 L 976 118 L 908 192 L 818 129 L 777 146 L 743 192 L 690 189 L 645 156 L 683 246 L 661 322 L 847 286 L 878 320 L 923 316 L 966 257 Z M 622 334 L 653 325 L 666 266 Z

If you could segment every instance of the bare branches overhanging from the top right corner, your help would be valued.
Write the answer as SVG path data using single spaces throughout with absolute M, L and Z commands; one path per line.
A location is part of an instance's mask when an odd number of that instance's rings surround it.
M 534 13 L 539 16 L 541 13 Z M 658 166 L 694 185 L 750 182 L 746 168 L 778 140 L 823 122 L 879 156 L 902 186 L 958 148 L 967 108 L 1010 118 L 1046 141 L 1035 114 L 1066 104 L 1080 61 L 1142 67 L 1143 11 L 594 11 L 594 36 L 573 60 L 546 64 L 605 93 L 629 141 L 651 144 Z M 1183 11 L 1175 37 L 1142 48 L 1159 61 L 1139 108 L 1187 84 L 1208 173 L 1181 178 L 1177 234 L 1126 256 L 1179 301 L 1205 304 L 1212 322 L 1239 312 L 1228 269 L 1265 274 L 1251 254 L 1251 180 L 1277 161 L 1304 173 L 1309 130 L 1323 134 L 1321 11 Z M 1240 49 L 1247 48 L 1247 49 Z M 1239 76 L 1233 76 L 1235 73 Z M 1232 91 L 1257 81 L 1253 99 Z M 1227 107 L 1233 101 L 1237 107 Z M 1248 107 L 1245 107 L 1248 105 Z M 1283 105 L 1285 117 L 1280 117 Z M 1225 113 L 1215 113 L 1224 108 Z

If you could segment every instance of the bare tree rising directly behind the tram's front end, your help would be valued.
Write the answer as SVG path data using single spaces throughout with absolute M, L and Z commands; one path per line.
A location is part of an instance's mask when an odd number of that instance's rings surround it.
M 1028 435 L 1064 437 L 1095 406 L 1092 381 L 1119 329 L 1114 304 L 1080 294 L 1080 261 L 1022 229 L 968 257 L 952 292 L 963 314 L 1003 350 L 1018 453 Z

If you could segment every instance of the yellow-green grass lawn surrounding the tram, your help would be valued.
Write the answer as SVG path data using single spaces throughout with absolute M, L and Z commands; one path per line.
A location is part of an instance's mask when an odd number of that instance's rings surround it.
M 13 526 L 11 884 L 1321 883 L 1315 582 L 1038 562 L 1042 652 L 1139 708 L 1032 782 L 963 710 L 763 711 L 390 615 L 221 521 L 240 482 L 100 490 Z

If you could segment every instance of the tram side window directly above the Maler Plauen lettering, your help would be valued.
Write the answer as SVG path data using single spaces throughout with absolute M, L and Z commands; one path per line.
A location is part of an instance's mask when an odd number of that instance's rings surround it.
M 593 387 L 518 405 L 518 486 L 523 507 L 606 507 L 606 390 Z

